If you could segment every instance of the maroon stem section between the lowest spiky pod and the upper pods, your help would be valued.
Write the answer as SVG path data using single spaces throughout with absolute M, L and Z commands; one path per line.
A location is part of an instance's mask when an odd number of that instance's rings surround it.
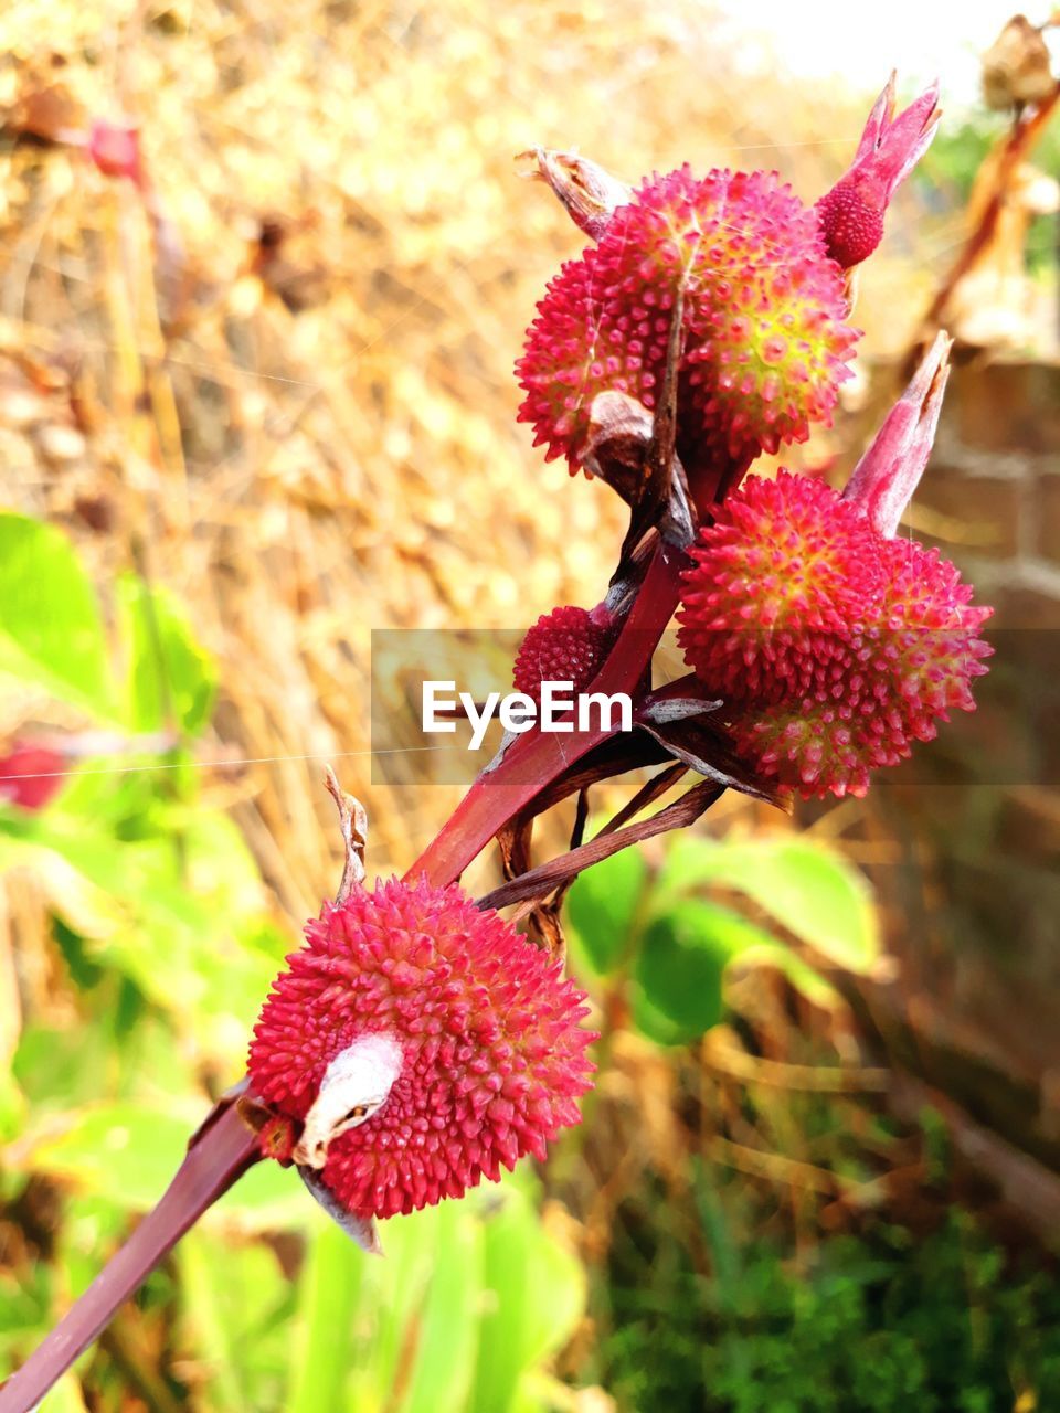
M 677 608 L 683 562 L 678 550 L 660 543 L 618 642 L 587 691 L 636 694 Z M 406 879 L 425 875 L 435 886 L 452 883 L 536 794 L 613 735 L 615 729 L 596 726 L 571 735 L 531 731 L 519 736 L 496 769 L 475 780 Z

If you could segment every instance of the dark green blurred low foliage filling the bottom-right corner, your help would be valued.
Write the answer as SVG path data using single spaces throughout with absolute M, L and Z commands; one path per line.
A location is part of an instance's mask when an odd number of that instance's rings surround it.
M 965 1214 L 879 1222 L 801 1260 L 734 1228 L 700 1174 L 709 1269 L 666 1222 L 616 1245 L 596 1376 L 637 1413 L 1011 1413 L 1060 1407 L 1060 1286 Z

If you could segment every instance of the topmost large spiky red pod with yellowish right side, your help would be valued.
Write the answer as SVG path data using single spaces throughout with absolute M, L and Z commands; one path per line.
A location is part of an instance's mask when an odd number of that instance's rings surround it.
M 693 483 L 830 421 L 856 333 L 815 212 L 776 172 L 697 178 L 685 165 L 619 206 L 537 307 L 519 417 L 550 459 L 578 468 L 599 393 L 656 406 L 678 290 L 677 451 Z

